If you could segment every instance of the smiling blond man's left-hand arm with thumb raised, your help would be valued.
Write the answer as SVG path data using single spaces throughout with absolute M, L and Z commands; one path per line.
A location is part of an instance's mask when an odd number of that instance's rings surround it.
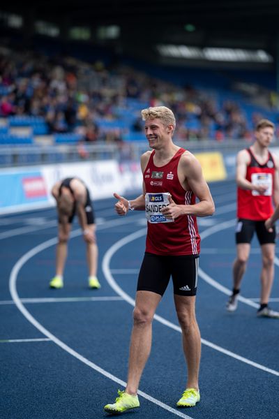
M 146 165 L 149 161 L 151 152 L 146 152 L 142 154 L 140 159 L 140 166 L 142 168 L 142 174 L 144 174 L 144 170 Z M 114 198 L 118 199 L 118 202 L 115 204 L 115 210 L 119 215 L 126 215 L 129 210 L 137 210 L 137 211 L 144 211 L 145 210 L 145 186 L 144 182 L 142 182 L 142 194 L 133 200 L 128 200 L 123 196 L 120 196 L 118 193 L 114 193 Z

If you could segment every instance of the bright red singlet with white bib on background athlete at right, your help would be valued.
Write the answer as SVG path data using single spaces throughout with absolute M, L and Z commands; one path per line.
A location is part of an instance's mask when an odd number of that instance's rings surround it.
M 246 179 L 253 184 L 268 185 L 265 195 L 259 195 L 257 191 L 237 188 L 237 217 L 254 221 L 264 221 L 273 214 L 272 196 L 274 175 L 276 166 L 269 152 L 266 163 L 259 164 L 250 149 L 250 163 L 247 167 Z

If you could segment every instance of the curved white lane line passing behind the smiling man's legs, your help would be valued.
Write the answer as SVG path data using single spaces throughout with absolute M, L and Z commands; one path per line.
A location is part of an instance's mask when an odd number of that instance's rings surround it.
M 223 223 L 224 225 L 226 223 Z M 229 225 L 229 222 L 227 222 L 227 224 Z M 220 226 L 220 224 L 219 224 Z M 214 230 L 216 231 L 216 228 L 214 229 L 214 227 L 212 227 L 209 230 Z M 103 273 L 105 275 L 105 278 L 107 279 L 107 282 L 110 284 L 110 286 L 114 289 L 114 291 L 120 295 L 124 300 L 126 300 L 129 304 L 135 306 L 135 300 L 133 300 L 133 298 L 130 297 L 130 295 L 126 294 L 122 288 L 116 284 L 116 281 L 114 281 L 114 278 L 112 277 L 112 274 L 110 272 L 110 260 L 112 259 L 112 256 L 114 256 L 114 253 L 116 253 L 116 251 L 118 251 L 119 249 L 121 249 L 121 247 L 125 246 L 126 244 L 133 242 L 133 240 L 138 239 L 139 237 L 142 237 L 142 235 L 144 235 L 146 233 L 146 230 L 141 229 L 138 230 L 135 233 L 132 233 L 126 237 L 123 237 L 121 240 L 119 240 L 118 242 L 114 243 L 112 245 L 112 247 L 110 247 L 110 249 L 108 249 L 105 253 L 105 256 L 103 258 L 103 263 L 102 263 L 102 268 L 103 268 Z M 225 287 L 223 287 L 225 288 Z M 227 288 L 226 288 L 227 289 Z M 252 304 L 255 304 L 253 302 L 251 302 Z M 247 304 L 247 303 L 246 303 Z M 170 321 L 167 321 L 165 318 L 158 316 L 157 314 L 155 314 L 154 318 L 159 321 L 160 323 L 162 323 L 163 325 L 166 325 L 167 327 L 176 330 L 177 332 L 181 332 L 181 328 L 178 325 L 175 325 L 174 323 L 171 323 Z M 257 362 L 253 362 L 251 360 L 248 360 L 248 358 L 244 358 L 241 355 L 238 355 L 234 352 L 231 351 L 227 351 L 227 349 L 223 348 L 222 346 L 218 346 L 216 344 L 213 344 L 212 342 L 206 340 L 206 339 L 202 339 L 202 344 L 209 346 L 210 348 L 213 348 L 214 350 L 223 353 L 225 355 L 228 355 L 236 360 L 239 360 L 241 362 L 244 362 L 248 365 L 251 365 L 252 367 L 258 368 L 258 369 L 262 369 L 262 371 L 264 372 L 269 372 L 270 374 L 279 376 L 279 372 L 265 367 L 264 365 L 258 364 Z

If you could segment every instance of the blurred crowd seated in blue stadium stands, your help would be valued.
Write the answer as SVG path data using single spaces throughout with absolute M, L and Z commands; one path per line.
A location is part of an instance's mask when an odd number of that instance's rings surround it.
M 247 115 L 241 101 L 218 91 L 176 86 L 118 65 L 34 52 L 0 54 L 0 117 L 43 117 L 49 134 L 79 133 L 86 142 L 144 140 L 142 108 L 166 105 L 177 119 L 177 140 L 245 138 L 264 113 Z

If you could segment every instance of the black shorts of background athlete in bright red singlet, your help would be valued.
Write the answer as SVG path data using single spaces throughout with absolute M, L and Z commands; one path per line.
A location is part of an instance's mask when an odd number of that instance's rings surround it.
M 254 233 L 257 233 L 259 244 L 275 243 L 276 229 L 266 230 L 264 221 L 239 219 L 236 224 L 236 244 L 250 243 Z

